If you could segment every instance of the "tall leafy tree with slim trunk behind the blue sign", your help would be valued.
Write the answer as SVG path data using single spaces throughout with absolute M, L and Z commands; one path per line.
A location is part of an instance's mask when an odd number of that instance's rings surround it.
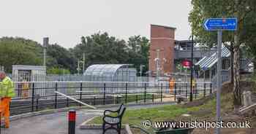
M 240 47 L 241 44 L 248 45 L 252 39 L 247 32 L 255 25 L 254 0 L 192 0 L 193 9 L 189 13 L 189 22 L 197 40 L 208 46 L 217 44 L 217 33 L 206 32 L 203 29 L 203 21 L 209 17 L 237 17 L 238 29 L 235 32 L 223 32 L 223 43 L 230 49 L 231 61 L 233 62 L 233 103 L 235 110 L 241 106 L 240 90 Z

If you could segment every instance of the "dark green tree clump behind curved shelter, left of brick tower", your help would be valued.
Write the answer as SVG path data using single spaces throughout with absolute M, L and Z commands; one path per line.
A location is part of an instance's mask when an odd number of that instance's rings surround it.
M 72 53 L 77 60 L 83 60 L 85 53 L 86 67 L 97 63 L 129 63 L 134 64 L 137 71 L 140 71 L 140 65 L 145 65 L 145 73 L 148 71 L 148 50 L 149 40 L 146 37 L 131 36 L 127 43 L 105 32 L 82 36 L 81 43 L 72 49 Z

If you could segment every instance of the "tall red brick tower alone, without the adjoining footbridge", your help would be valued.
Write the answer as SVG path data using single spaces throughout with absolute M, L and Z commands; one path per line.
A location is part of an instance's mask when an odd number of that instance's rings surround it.
M 174 69 L 174 47 L 176 28 L 151 25 L 151 45 L 149 56 L 149 73 L 152 76 L 157 74 L 157 64 L 159 75 L 170 74 Z

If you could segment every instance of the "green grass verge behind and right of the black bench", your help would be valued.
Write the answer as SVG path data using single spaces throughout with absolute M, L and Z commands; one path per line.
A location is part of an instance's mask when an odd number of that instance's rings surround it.
M 232 94 L 222 94 L 222 114 L 232 111 Z M 191 114 L 189 119 L 204 120 L 215 117 L 216 99 L 214 96 L 193 101 L 184 105 L 159 106 L 150 109 L 127 110 L 124 114 L 122 123 L 129 125 L 138 125 L 143 127 L 143 122 L 151 120 L 152 122 L 170 121 L 170 120 L 189 120 L 182 117 L 182 114 Z M 187 119 L 186 119 L 187 118 Z M 102 124 L 102 117 L 96 117 L 89 124 Z M 153 131 L 149 129 L 149 131 Z

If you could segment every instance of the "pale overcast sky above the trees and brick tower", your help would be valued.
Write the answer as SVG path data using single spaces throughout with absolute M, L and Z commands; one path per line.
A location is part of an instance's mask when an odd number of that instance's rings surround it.
M 107 31 L 127 40 L 149 38 L 150 24 L 176 27 L 188 39 L 190 0 L 1 0 L 0 36 L 20 36 L 74 47 L 81 36 Z

